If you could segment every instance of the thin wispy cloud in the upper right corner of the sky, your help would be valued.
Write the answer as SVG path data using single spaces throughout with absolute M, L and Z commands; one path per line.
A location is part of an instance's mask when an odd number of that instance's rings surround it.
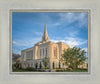
M 77 24 L 79 27 L 86 25 L 87 23 L 87 18 L 86 15 L 87 13 L 60 13 L 59 14 L 61 17 L 62 22 L 66 22 L 66 25 L 71 24 L 75 21 L 77 21 Z

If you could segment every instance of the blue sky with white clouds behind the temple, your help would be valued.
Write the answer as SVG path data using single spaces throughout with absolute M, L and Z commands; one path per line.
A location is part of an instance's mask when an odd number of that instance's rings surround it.
M 35 43 L 42 40 L 45 17 L 47 19 L 47 31 L 51 41 L 62 41 L 70 47 L 77 46 L 87 52 L 87 12 L 13 12 L 12 41 L 14 53 L 21 54 L 21 50 L 33 47 Z

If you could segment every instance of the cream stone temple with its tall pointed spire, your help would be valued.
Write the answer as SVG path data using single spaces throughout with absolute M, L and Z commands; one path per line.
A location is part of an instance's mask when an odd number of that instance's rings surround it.
M 66 68 L 65 64 L 60 62 L 61 55 L 64 49 L 68 49 L 69 45 L 64 42 L 49 41 L 47 25 L 45 20 L 45 30 L 42 41 L 36 43 L 33 47 L 21 51 L 21 63 L 23 68 L 33 67 L 49 69 Z M 47 65 L 43 63 L 47 59 Z

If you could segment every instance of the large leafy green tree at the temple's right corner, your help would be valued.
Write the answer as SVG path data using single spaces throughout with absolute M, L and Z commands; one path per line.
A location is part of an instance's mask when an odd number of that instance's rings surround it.
M 85 50 L 82 50 L 81 48 L 68 48 L 67 50 L 64 50 L 61 61 L 63 61 L 69 67 L 72 67 L 73 71 L 75 72 L 78 65 L 83 64 L 86 60 L 85 54 Z

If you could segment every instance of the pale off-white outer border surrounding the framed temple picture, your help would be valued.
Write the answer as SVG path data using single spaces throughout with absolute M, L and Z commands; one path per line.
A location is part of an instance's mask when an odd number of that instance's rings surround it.
M 10 9 L 91 9 L 91 73 L 85 75 L 9 74 Z M 0 83 L 1 84 L 100 84 L 100 1 L 99 0 L 1 0 Z

